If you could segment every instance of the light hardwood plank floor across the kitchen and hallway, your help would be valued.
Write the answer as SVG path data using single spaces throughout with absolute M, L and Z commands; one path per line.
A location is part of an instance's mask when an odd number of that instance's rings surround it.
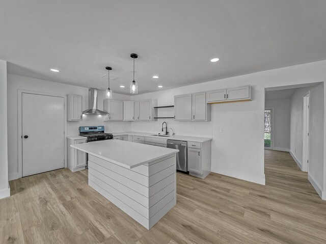
M 326 243 L 322 201 L 287 152 L 265 151 L 266 186 L 177 174 L 177 205 L 149 231 L 68 169 L 10 181 L 0 243 Z

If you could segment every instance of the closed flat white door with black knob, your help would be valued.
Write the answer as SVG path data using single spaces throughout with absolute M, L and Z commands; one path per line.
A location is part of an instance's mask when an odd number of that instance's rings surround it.
M 22 176 L 64 168 L 64 98 L 22 93 Z

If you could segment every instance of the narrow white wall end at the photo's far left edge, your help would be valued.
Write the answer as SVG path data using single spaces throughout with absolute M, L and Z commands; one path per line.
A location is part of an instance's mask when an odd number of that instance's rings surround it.
M 0 60 L 0 199 L 10 196 L 7 144 L 7 62 Z

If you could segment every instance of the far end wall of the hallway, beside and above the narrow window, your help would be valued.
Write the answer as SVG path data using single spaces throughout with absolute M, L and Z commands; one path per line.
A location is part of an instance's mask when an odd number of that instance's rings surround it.
M 265 107 L 274 107 L 274 150 L 290 150 L 290 98 L 265 100 Z

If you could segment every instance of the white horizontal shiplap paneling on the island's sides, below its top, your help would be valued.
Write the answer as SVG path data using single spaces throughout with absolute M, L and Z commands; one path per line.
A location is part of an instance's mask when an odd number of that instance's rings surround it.
M 126 169 L 93 155 L 88 183 L 141 225 L 150 229 L 176 204 L 176 156 Z

